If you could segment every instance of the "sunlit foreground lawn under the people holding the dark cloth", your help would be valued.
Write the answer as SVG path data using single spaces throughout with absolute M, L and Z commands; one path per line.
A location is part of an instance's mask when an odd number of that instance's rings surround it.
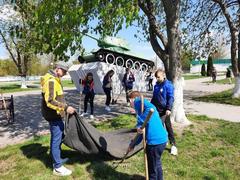
M 189 115 L 193 122 L 177 134 L 179 155 L 163 153 L 166 180 L 173 179 L 239 179 L 240 123 Z M 122 121 L 121 121 L 122 120 Z M 95 125 L 98 129 L 130 127 L 131 116 L 122 116 Z M 73 170 L 70 177 L 52 175 L 49 158 L 49 136 L 35 137 L 24 144 L 8 146 L 0 151 L 0 179 L 141 179 L 144 176 L 143 152 L 113 169 L 113 162 L 101 157 L 81 155 L 63 146 L 63 156 L 70 158 L 66 166 Z

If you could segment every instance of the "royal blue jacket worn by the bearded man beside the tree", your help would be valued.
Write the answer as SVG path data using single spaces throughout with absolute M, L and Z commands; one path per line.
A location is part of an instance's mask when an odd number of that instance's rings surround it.
M 164 115 L 166 110 L 171 110 L 174 102 L 174 87 L 171 81 L 165 80 L 156 83 L 153 90 L 151 103 L 154 104 L 160 113 Z

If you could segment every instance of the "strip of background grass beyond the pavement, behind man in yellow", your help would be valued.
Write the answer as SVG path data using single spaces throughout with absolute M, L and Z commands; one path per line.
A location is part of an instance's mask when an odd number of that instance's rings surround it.
M 34 82 L 33 84 L 39 85 L 39 82 Z M 63 80 L 62 81 L 63 87 L 75 87 L 75 85 L 70 80 Z M 32 91 L 40 89 L 38 86 L 29 85 L 27 89 L 21 89 L 20 83 L 6 83 L 0 85 L 0 91 L 3 93 L 12 93 L 12 92 L 19 92 L 19 91 Z

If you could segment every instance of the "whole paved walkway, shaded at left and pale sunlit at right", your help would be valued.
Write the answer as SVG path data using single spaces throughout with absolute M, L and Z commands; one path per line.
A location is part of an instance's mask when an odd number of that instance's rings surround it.
M 192 96 L 205 95 L 209 93 L 230 89 L 233 85 L 218 85 L 202 83 L 209 78 L 187 80 L 184 87 L 184 106 L 187 113 L 207 115 L 212 118 L 220 118 L 227 121 L 240 122 L 240 108 L 237 106 L 221 105 L 216 103 L 204 103 L 191 100 Z M 10 93 L 11 94 L 11 93 Z M 5 94 L 5 96 L 10 95 Z M 125 103 L 125 94 L 120 96 L 118 103 L 112 106 L 112 112 L 104 110 L 105 96 L 95 97 L 95 121 L 103 121 L 113 118 L 119 114 L 126 114 L 129 109 Z M 48 122 L 41 116 L 40 91 L 28 91 L 14 93 L 15 122 L 6 125 L 3 111 L 0 111 L 0 147 L 15 144 L 31 138 L 35 135 L 48 133 Z M 66 90 L 66 99 L 70 105 L 79 107 L 79 95 L 75 88 Z M 81 101 L 81 107 L 83 103 Z M 85 120 L 88 120 L 86 118 Z

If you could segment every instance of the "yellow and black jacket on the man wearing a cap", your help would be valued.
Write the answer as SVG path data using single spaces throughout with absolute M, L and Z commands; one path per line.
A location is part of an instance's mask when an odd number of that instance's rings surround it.
M 41 87 L 43 117 L 48 121 L 62 118 L 67 104 L 60 78 L 56 77 L 53 71 L 49 71 L 41 78 Z

